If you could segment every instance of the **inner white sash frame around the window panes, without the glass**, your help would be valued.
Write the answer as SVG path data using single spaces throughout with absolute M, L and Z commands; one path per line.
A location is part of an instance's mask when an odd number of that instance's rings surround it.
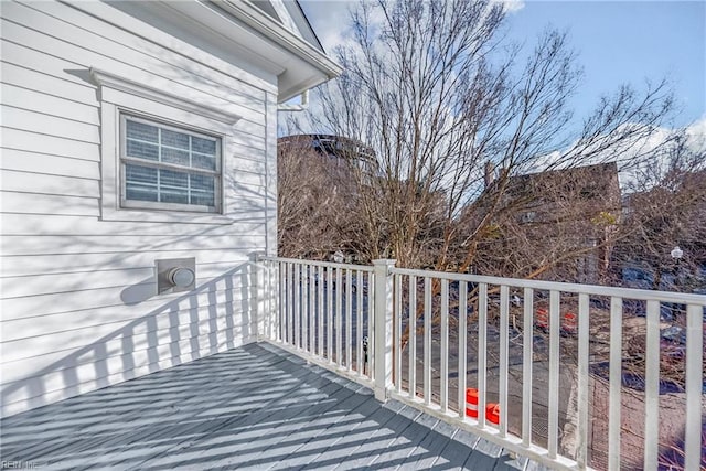
M 127 121 L 142 122 L 149 126 L 158 127 L 159 129 L 167 129 L 175 132 L 185 133 L 189 136 L 195 136 L 199 138 L 205 138 L 215 140 L 216 142 L 216 169 L 214 171 L 202 170 L 199 168 L 191 168 L 178 164 L 170 164 L 164 162 L 153 162 L 150 160 L 131 158 L 127 156 Z M 120 207 L 121 208 L 145 208 L 154 211 L 184 211 L 184 212 L 197 212 L 197 213 L 218 213 L 222 214 L 223 207 L 223 136 L 206 135 L 196 130 L 178 127 L 159 121 L 149 117 L 143 117 L 136 114 L 121 113 L 120 114 Z M 161 147 L 161 143 L 160 143 Z M 135 164 L 140 167 L 149 167 L 153 169 L 165 169 L 189 174 L 206 174 L 215 178 L 214 184 L 214 205 L 204 206 L 196 204 L 180 204 L 180 203 L 164 203 L 152 202 L 142 200 L 128 200 L 127 197 L 127 178 L 126 167 L 127 164 Z

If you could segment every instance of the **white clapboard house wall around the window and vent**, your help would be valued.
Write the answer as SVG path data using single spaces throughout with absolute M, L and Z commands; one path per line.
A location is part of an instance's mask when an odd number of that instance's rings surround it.
M 0 9 L 2 415 L 254 341 L 250 257 L 276 250 L 276 77 L 105 3 Z M 232 223 L 101 217 L 92 67 L 239 117 Z M 196 289 L 157 296 L 154 260 L 182 257 Z

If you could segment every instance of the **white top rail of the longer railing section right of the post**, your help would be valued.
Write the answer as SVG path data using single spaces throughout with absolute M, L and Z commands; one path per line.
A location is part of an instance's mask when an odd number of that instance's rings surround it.
M 514 288 L 534 288 L 545 290 L 556 290 L 573 293 L 586 293 L 590 296 L 614 296 L 627 299 L 645 301 L 666 301 L 683 304 L 697 304 L 706 307 L 706 296 L 691 295 L 672 291 L 651 291 L 635 288 L 618 288 L 598 285 L 579 285 L 558 281 L 542 281 L 522 278 L 501 278 L 482 275 L 456 274 L 451 271 L 416 270 L 409 268 L 393 268 L 393 274 L 414 275 L 417 277 L 445 278 L 452 281 L 468 281 L 488 285 L 505 285 Z

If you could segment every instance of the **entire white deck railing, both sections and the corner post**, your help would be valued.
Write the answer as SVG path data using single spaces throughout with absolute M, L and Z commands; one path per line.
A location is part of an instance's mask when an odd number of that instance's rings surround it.
M 261 266 L 265 336 L 382 400 L 552 468 L 699 469 L 705 296 L 410 270 L 394 260 L 265 257 Z M 685 342 L 664 344 L 661 314 Z M 475 406 L 467 388 L 478 392 L 477 417 L 466 414 Z

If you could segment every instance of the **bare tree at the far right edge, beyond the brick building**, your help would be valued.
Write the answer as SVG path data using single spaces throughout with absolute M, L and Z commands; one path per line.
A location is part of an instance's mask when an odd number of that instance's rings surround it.
M 652 289 L 704 288 L 706 265 L 706 142 L 677 135 L 672 146 L 635 169 L 625 196 L 624 237 L 617 267 L 651 278 Z M 674 257 L 676 250 L 680 257 Z M 664 277 L 671 278 L 664 282 Z M 646 286 L 644 286 L 646 287 Z

